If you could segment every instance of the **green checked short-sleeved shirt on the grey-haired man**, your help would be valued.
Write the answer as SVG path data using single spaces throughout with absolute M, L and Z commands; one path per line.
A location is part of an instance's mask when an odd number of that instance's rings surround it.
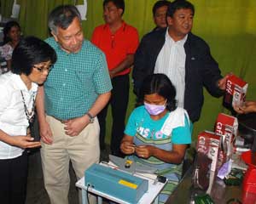
M 112 89 L 105 55 L 86 40 L 76 54 L 62 50 L 53 37 L 46 42 L 57 54 L 57 61 L 44 82 L 47 115 L 60 120 L 84 116 L 99 94 Z

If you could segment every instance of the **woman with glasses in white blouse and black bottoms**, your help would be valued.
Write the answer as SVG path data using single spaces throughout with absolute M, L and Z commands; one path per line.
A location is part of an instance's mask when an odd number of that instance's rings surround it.
M 25 203 L 26 148 L 39 147 L 29 131 L 38 85 L 55 63 L 55 50 L 37 37 L 20 40 L 13 52 L 12 69 L 0 76 L 0 202 Z

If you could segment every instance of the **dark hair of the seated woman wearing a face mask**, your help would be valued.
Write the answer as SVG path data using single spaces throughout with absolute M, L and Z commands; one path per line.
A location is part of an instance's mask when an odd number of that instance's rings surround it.
M 166 108 L 169 111 L 174 111 L 177 108 L 176 89 L 165 74 L 152 74 L 144 78 L 137 99 L 137 106 L 143 105 L 144 96 L 148 94 L 159 94 L 167 99 Z

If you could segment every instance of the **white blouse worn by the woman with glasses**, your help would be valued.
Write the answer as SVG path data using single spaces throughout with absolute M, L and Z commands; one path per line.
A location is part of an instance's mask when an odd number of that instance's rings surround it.
M 0 76 L 0 129 L 9 136 L 26 135 L 28 121 L 20 90 L 23 93 L 28 111 L 32 111 L 33 99 L 38 85 L 32 82 L 27 90 L 20 75 L 8 72 Z M 34 97 L 34 98 L 33 98 Z M 24 150 L 0 141 L 0 159 L 11 159 L 20 156 Z

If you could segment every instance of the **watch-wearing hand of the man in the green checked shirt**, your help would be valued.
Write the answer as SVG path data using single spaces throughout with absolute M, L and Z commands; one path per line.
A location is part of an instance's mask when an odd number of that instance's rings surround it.
M 65 133 L 69 136 L 78 136 L 82 132 L 84 127 L 90 123 L 88 116 L 81 116 L 67 121 L 63 121 L 66 127 Z

